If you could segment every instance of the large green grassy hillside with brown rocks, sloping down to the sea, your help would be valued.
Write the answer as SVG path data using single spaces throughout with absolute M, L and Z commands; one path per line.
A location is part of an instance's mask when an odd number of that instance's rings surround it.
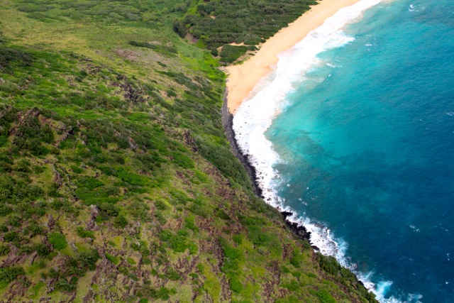
M 365 302 L 254 197 L 176 4 L 1 2 L 0 298 Z

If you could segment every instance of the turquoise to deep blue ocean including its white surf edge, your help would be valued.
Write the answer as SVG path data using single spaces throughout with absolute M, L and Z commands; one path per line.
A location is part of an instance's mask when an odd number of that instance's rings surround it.
M 380 302 L 454 302 L 453 71 L 454 1 L 361 0 L 233 119 L 265 200 Z

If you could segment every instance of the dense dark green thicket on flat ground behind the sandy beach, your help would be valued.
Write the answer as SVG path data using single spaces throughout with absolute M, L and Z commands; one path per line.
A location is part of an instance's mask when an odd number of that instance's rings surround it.
M 192 35 L 199 40 L 197 45 L 209 48 L 215 56 L 222 46 L 221 62 L 231 63 L 247 50 L 255 50 L 253 45 L 265 42 L 315 4 L 314 0 L 193 1 L 185 16 L 174 22 L 174 30 L 182 38 Z

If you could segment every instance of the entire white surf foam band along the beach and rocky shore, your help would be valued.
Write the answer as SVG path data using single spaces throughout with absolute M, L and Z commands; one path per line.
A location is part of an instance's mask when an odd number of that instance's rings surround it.
M 279 61 L 273 67 L 273 72 L 256 85 L 250 97 L 243 101 L 236 112 L 233 118 L 233 130 L 240 150 L 248 155 L 250 164 L 255 167 L 257 182 L 262 189 L 265 201 L 281 211 L 291 211 L 293 216 L 287 219 L 304 225 L 311 232 L 311 243 L 324 255 L 336 257 L 341 265 L 355 272 L 367 289 L 377 295 L 380 302 L 402 302 L 394 297 L 385 298 L 387 289 L 392 285 L 391 281 L 375 284 L 370 281 L 372 272 L 364 274 L 356 270 L 356 265 L 345 257 L 347 243 L 333 237 L 329 228 L 297 214 L 288 206 L 283 206 L 284 200 L 277 194 L 279 186 L 282 186 L 282 178 L 274 168 L 274 165 L 282 162 L 282 159 L 265 137 L 265 131 L 270 127 L 272 120 L 289 105 L 285 97 L 294 91 L 295 85 L 307 79 L 307 72 L 321 65 L 336 68 L 330 62 L 323 62 L 317 55 L 353 41 L 354 38 L 345 34 L 342 28 L 360 17 L 363 11 L 378 3 L 380 0 L 361 0 L 353 6 L 341 9 L 293 48 L 279 54 Z M 419 299 L 418 295 L 409 295 L 409 301 L 414 302 L 415 297 Z

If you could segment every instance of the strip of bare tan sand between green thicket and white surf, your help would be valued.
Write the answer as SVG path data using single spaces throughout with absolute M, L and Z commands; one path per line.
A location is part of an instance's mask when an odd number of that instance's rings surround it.
M 226 68 L 227 78 L 227 105 L 228 110 L 234 114 L 241 102 L 248 97 L 250 92 L 262 77 L 272 71 L 272 65 L 277 63 L 277 55 L 284 50 L 303 40 L 306 35 L 314 31 L 323 22 L 333 16 L 337 11 L 350 6 L 359 0 L 322 0 L 311 10 L 282 28 L 265 43 L 257 53 L 241 65 Z

